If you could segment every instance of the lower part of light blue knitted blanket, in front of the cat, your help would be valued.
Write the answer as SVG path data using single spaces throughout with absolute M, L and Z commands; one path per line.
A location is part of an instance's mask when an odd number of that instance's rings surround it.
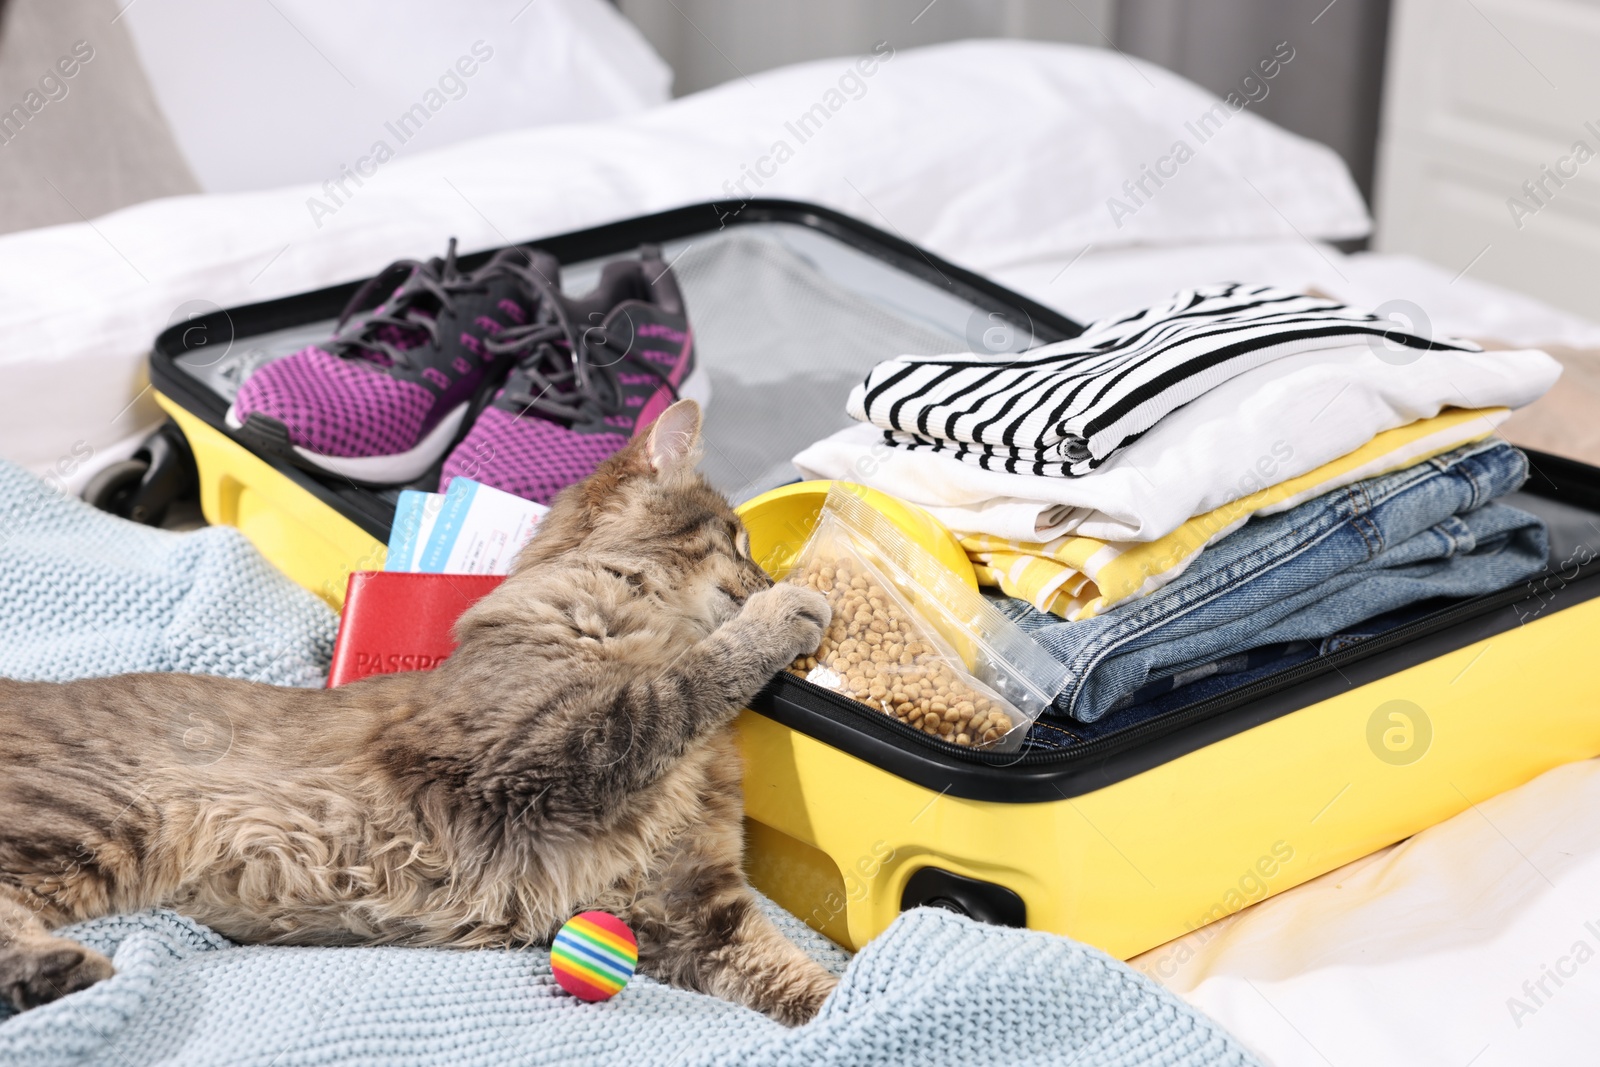
M 110 955 L 117 976 L 0 1022 L 0 1064 L 1256 1064 L 1142 974 L 1064 937 L 918 909 L 846 965 L 773 912 L 843 971 L 798 1030 L 648 977 L 586 1005 L 539 949 L 237 947 L 173 912 L 104 918 L 62 933 Z

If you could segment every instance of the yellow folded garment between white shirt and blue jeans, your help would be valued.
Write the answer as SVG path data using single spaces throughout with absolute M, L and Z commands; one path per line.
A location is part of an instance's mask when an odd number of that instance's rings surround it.
M 1494 432 L 1506 408 L 1448 410 L 1432 419 L 1386 430 L 1347 456 L 1298 478 L 1195 515 L 1158 541 L 1098 541 L 1066 534 L 1054 541 L 1005 541 L 960 534 L 979 585 L 997 585 L 1040 611 L 1077 622 L 1146 597 L 1184 573 L 1213 541 L 1251 515 L 1288 510 L 1363 478 L 1400 470 Z

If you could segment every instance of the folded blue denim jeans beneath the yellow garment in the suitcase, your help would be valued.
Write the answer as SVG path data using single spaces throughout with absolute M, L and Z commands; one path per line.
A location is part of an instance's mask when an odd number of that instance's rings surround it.
M 1526 474 L 1509 445 L 1467 445 L 1253 518 L 1173 584 L 1096 619 L 1062 622 L 1010 598 L 1000 608 L 1072 667 L 1056 710 L 1094 721 L 1157 678 L 1541 573 L 1544 523 L 1490 504 Z

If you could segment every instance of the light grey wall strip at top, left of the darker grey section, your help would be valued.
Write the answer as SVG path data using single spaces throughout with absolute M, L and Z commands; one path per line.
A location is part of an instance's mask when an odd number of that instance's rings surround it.
M 786 62 L 962 37 L 1106 45 L 1115 0 L 618 0 L 693 93 Z

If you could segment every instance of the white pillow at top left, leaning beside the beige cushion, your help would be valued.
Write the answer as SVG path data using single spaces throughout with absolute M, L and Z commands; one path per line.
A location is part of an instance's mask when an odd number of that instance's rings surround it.
M 363 158 L 378 173 L 379 142 L 398 158 L 611 118 L 666 102 L 672 85 L 605 0 L 141 0 L 123 11 L 206 192 L 338 181 Z

